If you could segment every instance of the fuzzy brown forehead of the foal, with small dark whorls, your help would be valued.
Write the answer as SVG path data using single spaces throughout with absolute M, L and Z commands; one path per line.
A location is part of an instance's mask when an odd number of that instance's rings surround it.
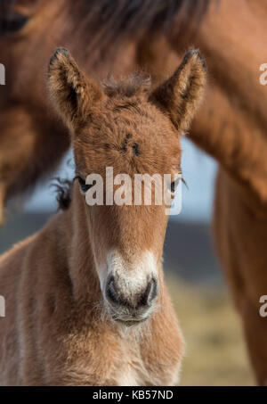
M 180 168 L 179 136 L 171 121 L 140 99 L 111 100 L 95 111 L 74 142 L 84 170 L 112 166 L 124 172 L 173 172 Z

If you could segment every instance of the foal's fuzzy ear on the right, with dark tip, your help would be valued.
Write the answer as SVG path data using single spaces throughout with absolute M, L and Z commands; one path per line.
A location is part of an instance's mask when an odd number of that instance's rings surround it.
M 173 76 L 156 88 L 150 99 L 169 115 L 176 128 L 184 131 L 201 103 L 205 85 L 206 62 L 198 50 L 190 50 Z

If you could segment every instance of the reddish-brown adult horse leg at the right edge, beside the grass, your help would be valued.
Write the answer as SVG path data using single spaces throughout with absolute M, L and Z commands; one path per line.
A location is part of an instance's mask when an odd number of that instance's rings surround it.
M 267 383 L 267 320 L 260 298 L 267 294 L 266 220 L 247 204 L 236 183 L 220 169 L 214 203 L 214 235 L 239 311 L 259 384 Z

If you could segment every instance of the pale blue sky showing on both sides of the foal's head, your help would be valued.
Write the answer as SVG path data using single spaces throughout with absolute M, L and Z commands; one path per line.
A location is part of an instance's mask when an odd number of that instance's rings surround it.
M 69 152 L 60 169 L 50 179 L 36 186 L 35 193 L 25 203 L 27 211 L 55 211 L 57 204 L 51 182 L 53 177 L 74 177 L 74 162 Z M 182 139 L 182 211 L 171 219 L 191 222 L 207 222 L 211 218 L 214 200 L 214 178 L 216 163 L 197 149 L 188 139 Z

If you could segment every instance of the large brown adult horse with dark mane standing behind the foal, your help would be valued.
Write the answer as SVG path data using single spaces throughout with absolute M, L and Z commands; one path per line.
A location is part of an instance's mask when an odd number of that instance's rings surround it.
M 220 163 L 214 211 L 217 249 L 243 320 L 258 383 L 266 383 L 267 326 L 258 310 L 259 299 L 267 291 L 267 92 L 259 82 L 260 66 L 266 62 L 266 1 L 221 0 L 210 2 L 207 11 L 199 8 L 207 2 L 181 0 L 121 0 L 116 6 L 109 0 L 98 2 L 98 6 L 93 1 L 79 1 L 75 11 L 68 0 L 15 3 L 13 10 L 17 12 L 10 12 L 4 26 L 5 32 L 15 29 L 16 33 L 1 39 L 1 58 L 13 66 L 8 69 L 11 80 L 5 88 L 9 95 L 2 98 L 1 114 L 4 156 L 0 172 L 5 199 L 51 169 L 69 145 L 68 139 L 60 136 L 61 124 L 47 114 L 43 90 L 38 86 L 49 46 L 61 41 L 61 45 L 74 48 L 85 67 L 98 70 L 100 76 L 110 62 L 110 53 L 103 49 L 110 47 L 113 52 L 117 38 L 123 40 L 120 49 L 125 62 L 120 60 L 118 65 L 112 56 L 115 71 L 127 71 L 138 62 L 161 74 L 166 61 L 169 66 L 176 63 L 177 54 L 192 40 L 205 54 L 210 86 L 190 138 Z M 192 13 L 201 15 L 202 21 L 192 18 Z M 86 45 L 91 36 L 92 47 Z M 38 63 L 30 62 L 33 53 Z M 104 57 L 104 63 L 99 64 L 99 56 Z M 27 136 L 21 136 L 21 128 Z M 53 136 L 47 136 L 50 132 Z M 8 145 L 15 135 L 16 141 Z

